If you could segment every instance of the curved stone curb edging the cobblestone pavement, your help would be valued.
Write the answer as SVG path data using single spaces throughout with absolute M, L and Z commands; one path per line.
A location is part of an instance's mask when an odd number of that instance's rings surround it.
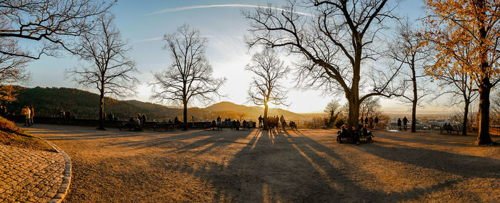
M 71 159 L 69 159 L 69 156 L 66 154 L 66 152 L 61 150 L 61 148 L 57 147 L 57 145 L 54 145 L 54 143 L 49 142 L 49 140 L 45 140 L 44 138 L 41 137 L 38 138 L 40 140 L 44 140 L 45 142 L 47 142 L 47 144 L 51 145 L 54 148 L 54 150 L 61 153 L 64 157 L 64 162 L 66 162 L 64 168 L 64 177 L 61 183 L 61 187 L 59 187 L 56 195 L 54 195 L 54 197 L 52 197 L 52 199 L 50 200 L 51 203 L 59 203 L 64 199 L 64 197 L 66 197 L 66 194 L 68 194 L 69 184 L 71 184 Z

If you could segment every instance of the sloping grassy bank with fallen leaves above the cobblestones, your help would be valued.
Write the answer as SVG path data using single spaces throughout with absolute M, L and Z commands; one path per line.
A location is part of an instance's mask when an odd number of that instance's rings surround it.
M 10 120 L 0 117 L 0 145 L 55 152 L 51 145 L 24 132 Z

